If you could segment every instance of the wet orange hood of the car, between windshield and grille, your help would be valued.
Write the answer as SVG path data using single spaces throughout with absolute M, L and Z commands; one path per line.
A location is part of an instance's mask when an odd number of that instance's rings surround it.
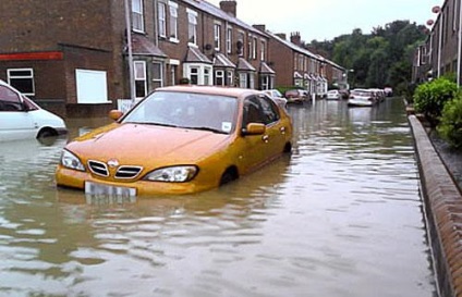
M 231 135 L 145 124 L 111 124 L 66 146 L 83 161 L 118 159 L 121 163 L 196 162 L 217 150 Z

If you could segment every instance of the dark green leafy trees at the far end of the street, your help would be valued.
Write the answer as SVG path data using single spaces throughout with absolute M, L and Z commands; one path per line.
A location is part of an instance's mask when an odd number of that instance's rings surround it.
M 424 27 L 409 21 L 394 21 L 374 27 L 370 34 L 353 29 L 333 40 L 313 40 L 307 47 L 324 52 L 326 58 L 344 69 L 353 70 L 349 74 L 353 87 L 391 86 L 403 92 L 411 82 L 412 53 L 426 38 Z

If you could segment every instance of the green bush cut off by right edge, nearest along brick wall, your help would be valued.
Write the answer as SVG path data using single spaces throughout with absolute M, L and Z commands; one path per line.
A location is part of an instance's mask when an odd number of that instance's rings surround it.
M 446 103 L 437 131 L 453 148 L 462 148 L 462 92 Z

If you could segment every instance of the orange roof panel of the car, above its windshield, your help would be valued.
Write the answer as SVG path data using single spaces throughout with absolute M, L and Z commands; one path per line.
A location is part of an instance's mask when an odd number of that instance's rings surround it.
M 236 87 L 220 87 L 220 86 L 194 86 L 194 85 L 179 85 L 157 88 L 156 91 L 179 91 L 179 92 L 195 92 L 219 95 L 228 97 L 241 97 L 253 94 L 262 94 L 256 89 L 236 88 Z

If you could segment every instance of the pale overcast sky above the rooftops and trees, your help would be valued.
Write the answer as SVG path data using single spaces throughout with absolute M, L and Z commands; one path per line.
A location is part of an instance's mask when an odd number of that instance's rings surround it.
M 207 0 L 219 7 L 220 0 Z M 443 0 L 236 0 L 238 18 L 271 33 L 299 32 L 305 42 L 332 40 L 360 28 L 369 34 L 393 21 L 425 25 Z

